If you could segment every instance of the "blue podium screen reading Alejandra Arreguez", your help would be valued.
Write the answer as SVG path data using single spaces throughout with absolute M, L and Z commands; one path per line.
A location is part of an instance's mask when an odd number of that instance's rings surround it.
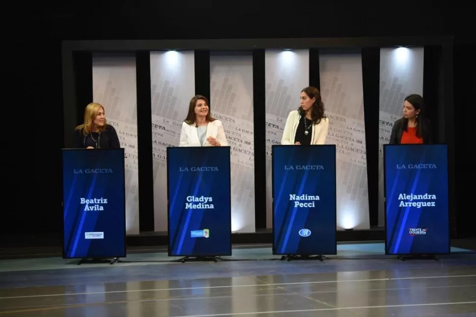
M 386 254 L 450 253 L 447 145 L 384 145 Z

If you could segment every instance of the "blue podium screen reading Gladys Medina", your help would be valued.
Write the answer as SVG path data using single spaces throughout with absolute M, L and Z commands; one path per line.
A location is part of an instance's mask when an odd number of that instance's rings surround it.
M 169 256 L 231 255 L 230 147 L 167 147 Z

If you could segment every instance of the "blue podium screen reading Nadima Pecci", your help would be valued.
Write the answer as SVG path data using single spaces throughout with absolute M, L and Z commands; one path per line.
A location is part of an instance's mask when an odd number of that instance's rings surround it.
M 272 146 L 273 254 L 336 254 L 336 146 Z

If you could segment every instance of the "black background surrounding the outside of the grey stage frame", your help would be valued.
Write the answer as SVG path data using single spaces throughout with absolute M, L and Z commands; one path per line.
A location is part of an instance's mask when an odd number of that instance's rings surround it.
M 443 35 L 454 37 L 454 233 L 459 238 L 475 237 L 474 17 L 470 2 L 457 2 L 380 1 L 373 6 L 362 1 L 8 3 L 11 6 L 3 10 L 7 85 L 0 164 L 2 239 L 36 233 L 61 237 L 61 40 Z

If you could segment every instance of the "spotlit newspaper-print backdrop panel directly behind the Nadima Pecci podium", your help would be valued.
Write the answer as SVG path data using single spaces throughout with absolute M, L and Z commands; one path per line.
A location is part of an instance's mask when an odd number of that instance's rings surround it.
M 301 90 L 309 86 L 309 49 L 265 50 L 266 82 L 266 228 L 273 226 L 271 146 L 281 144 L 291 110 L 299 107 Z

